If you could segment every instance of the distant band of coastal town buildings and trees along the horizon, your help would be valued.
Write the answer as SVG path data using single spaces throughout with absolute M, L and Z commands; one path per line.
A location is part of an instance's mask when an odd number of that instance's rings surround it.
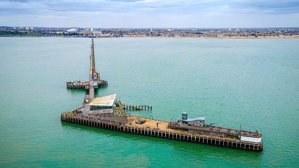
M 298 28 L 276 28 L 276 29 L 126 29 L 121 28 L 34 28 L 33 27 L 10 27 L 1 29 L 0 35 L 21 35 L 22 32 L 31 32 L 33 35 L 42 36 L 78 36 L 86 37 L 96 35 L 98 37 L 192 37 L 192 38 L 297 38 Z M 115 31 L 116 30 L 116 31 Z M 6 33 L 4 33 L 4 31 Z M 14 33 L 13 33 L 14 32 Z M 16 33 L 17 32 L 17 33 Z

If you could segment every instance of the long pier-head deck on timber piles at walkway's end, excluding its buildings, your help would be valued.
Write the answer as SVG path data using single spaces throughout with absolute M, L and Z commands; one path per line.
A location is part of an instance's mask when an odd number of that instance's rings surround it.
M 109 95 L 111 97 L 112 95 Z M 61 121 L 87 125 L 114 131 L 153 136 L 171 140 L 208 144 L 249 151 L 262 151 L 263 141 L 252 142 L 248 138 L 261 137 L 260 133 L 234 130 L 219 126 L 190 126 L 180 121 L 161 121 L 126 114 L 121 101 L 115 101 L 112 109 L 90 109 L 89 105 L 61 114 Z M 212 130 L 213 129 L 213 130 Z M 246 134 L 246 136 L 245 136 Z M 241 135 L 247 137 L 241 139 Z M 247 136 L 248 135 L 248 136 Z

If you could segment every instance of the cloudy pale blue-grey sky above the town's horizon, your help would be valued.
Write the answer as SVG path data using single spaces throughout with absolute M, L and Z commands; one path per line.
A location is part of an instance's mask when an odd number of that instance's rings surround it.
M 299 0 L 0 0 L 0 26 L 299 27 Z

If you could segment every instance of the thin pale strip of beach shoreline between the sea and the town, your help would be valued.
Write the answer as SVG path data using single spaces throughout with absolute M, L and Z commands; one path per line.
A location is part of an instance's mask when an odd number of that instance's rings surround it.
M 0 37 L 63 37 L 63 36 L 0 35 Z M 73 37 L 73 36 L 69 36 L 69 37 Z M 178 39 L 181 39 L 181 38 L 183 38 L 183 39 L 297 39 L 297 38 L 299 38 L 299 37 L 161 37 L 161 36 L 159 36 L 159 37 L 122 36 L 122 37 L 124 37 L 124 38 L 178 38 Z M 85 37 L 85 38 L 89 38 L 89 37 Z M 120 38 L 120 37 L 97 37 L 97 38 Z

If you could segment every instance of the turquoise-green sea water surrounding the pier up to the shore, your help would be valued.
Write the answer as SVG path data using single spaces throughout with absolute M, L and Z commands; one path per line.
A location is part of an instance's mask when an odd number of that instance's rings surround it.
M 298 167 L 299 39 L 95 39 L 96 69 L 135 115 L 262 130 L 244 151 L 62 123 L 81 106 L 88 38 L 0 37 L 1 167 Z

